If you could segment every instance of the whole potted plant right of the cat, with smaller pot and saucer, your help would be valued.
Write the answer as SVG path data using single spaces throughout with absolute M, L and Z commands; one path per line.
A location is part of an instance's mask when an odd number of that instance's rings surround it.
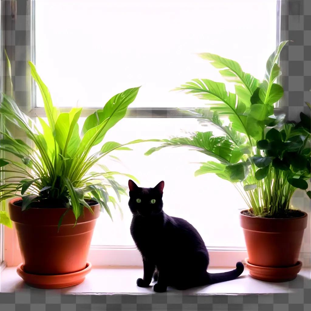
M 200 54 L 235 84 L 235 93 L 208 79 L 193 79 L 176 90 L 207 100 L 207 109 L 187 113 L 220 129 L 222 135 L 208 131 L 173 137 L 146 152 L 188 146 L 217 160 L 202 163 L 195 175 L 214 173 L 233 183 L 244 198 L 248 209 L 241 211 L 240 222 L 249 257 L 246 265 L 251 276 L 265 281 L 296 277 L 307 225 L 307 214 L 291 209 L 290 199 L 297 188 L 307 190 L 311 176 L 310 117 L 301 113 L 299 123 L 285 123 L 284 114 L 274 114 L 274 103 L 283 95 L 275 80 L 281 74 L 278 58 L 285 44 L 281 42 L 269 57 L 263 81 L 243 72 L 233 60 Z M 310 197 L 310 191 L 306 193 Z

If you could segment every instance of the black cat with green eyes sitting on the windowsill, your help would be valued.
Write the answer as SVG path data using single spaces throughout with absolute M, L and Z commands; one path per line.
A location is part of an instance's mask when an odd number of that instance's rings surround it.
M 144 264 L 138 286 L 149 286 L 154 276 L 156 292 L 165 292 L 167 286 L 185 290 L 233 280 L 243 272 L 242 262 L 237 262 L 232 271 L 206 271 L 209 258 L 200 234 L 186 220 L 168 216 L 162 210 L 164 181 L 155 188 L 139 188 L 129 180 L 128 187 L 128 206 L 133 214 L 131 234 Z

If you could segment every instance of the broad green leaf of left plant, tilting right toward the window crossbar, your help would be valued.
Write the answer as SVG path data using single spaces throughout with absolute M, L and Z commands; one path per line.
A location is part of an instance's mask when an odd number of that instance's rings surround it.
M 95 111 L 95 113 L 89 115 L 82 128 L 82 144 L 85 143 L 85 139 L 88 141 L 90 138 L 93 138 L 94 135 L 96 135 L 96 137 L 92 145 L 95 146 L 100 143 L 109 128 L 112 128 L 125 116 L 128 105 L 135 100 L 138 90 L 139 87 L 135 87 L 114 95 L 104 105 L 103 109 L 99 109 Z M 100 128 L 100 132 L 97 133 L 97 130 L 94 131 L 94 128 L 98 127 L 104 121 L 106 121 L 105 126 Z

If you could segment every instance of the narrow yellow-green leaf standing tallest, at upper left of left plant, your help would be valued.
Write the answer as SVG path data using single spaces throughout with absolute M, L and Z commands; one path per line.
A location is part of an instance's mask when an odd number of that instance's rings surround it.
M 38 72 L 36 71 L 35 65 L 33 63 L 31 63 L 30 61 L 28 63 L 29 63 L 29 66 L 31 68 L 31 75 L 35 79 L 35 81 L 37 82 L 37 85 L 39 86 L 39 89 L 41 91 L 46 117 L 48 118 L 49 125 L 50 125 L 52 133 L 54 135 L 55 123 L 56 123 L 56 120 L 57 120 L 58 115 L 59 115 L 59 110 L 53 106 L 49 89 L 47 88 L 47 86 L 43 83 L 43 81 L 39 77 Z

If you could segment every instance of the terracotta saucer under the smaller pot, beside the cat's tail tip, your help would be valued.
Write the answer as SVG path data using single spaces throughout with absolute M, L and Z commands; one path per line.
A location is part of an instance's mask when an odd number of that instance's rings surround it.
M 294 280 L 301 269 L 302 262 L 297 261 L 294 266 L 290 267 L 261 267 L 254 266 L 245 259 L 246 267 L 251 277 L 267 282 L 286 282 Z

